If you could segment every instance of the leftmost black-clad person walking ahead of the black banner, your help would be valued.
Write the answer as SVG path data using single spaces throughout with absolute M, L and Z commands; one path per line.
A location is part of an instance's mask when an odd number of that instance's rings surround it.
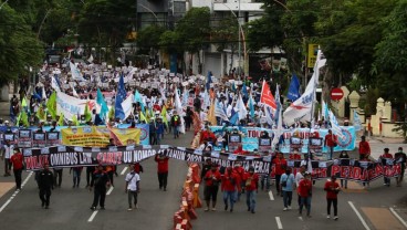
M 49 164 L 45 164 L 43 170 L 40 171 L 38 184 L 40 188 L 41 207 L 49 209 L 51 189 L 54 189 L 54 176 L 52 171 L 50 171 Z

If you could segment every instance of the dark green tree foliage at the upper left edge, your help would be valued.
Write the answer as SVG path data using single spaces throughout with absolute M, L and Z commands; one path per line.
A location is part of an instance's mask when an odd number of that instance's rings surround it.
M 28 74 L 43 59 L 43 45 L 36 39 L 28 17 L 8 4 L 0 10 L 0 85 Z

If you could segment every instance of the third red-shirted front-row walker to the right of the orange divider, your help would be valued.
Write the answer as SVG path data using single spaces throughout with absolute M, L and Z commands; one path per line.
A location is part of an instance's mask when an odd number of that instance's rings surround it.
M 259 188 L 259 175 L 254 172 L 254 167 L 250 166 L 249 171 L 243 176 L 246 186 L 246 205 L 248 206 L 248 211 L 255 213 L 255 194 Z

